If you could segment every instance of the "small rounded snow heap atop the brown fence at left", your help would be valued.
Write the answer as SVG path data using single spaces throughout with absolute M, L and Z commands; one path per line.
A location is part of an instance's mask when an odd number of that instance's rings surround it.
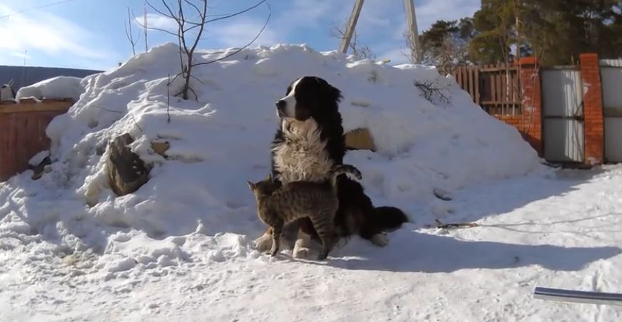
M 57 76 L 46 79 L 20 88 L 17 91 L 17 99 L 73 98 L 73 100 L 78 100 L 80 94 L 84 92 L 81 81 L 82 78 L 71 76 Z

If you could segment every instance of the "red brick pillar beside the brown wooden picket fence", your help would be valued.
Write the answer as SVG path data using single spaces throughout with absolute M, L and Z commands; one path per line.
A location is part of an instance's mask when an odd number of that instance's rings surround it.
M 542 100 L 539 63 L 535 57 L 524 57 L 514 63 L 519 66 L 523 113 L 519 130 L 531 147 L 542 156 Z

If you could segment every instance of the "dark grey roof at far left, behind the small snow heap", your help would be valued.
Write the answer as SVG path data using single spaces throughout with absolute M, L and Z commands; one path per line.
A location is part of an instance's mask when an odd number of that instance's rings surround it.
M 17 91 L 21 87 L 32 85 L 56 76 L 84 78 L 95 73 L 101 73 L 101 71 L 56 67 L 0 66 L 0 85 L 9 83 L 12 79 L 13 85 L 11 87 Z

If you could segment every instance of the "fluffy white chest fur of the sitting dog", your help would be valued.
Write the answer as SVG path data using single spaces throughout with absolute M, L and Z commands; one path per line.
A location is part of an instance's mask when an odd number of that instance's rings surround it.
M 274 147 L 275 167 L 283 183 L 322 181 L 332 168 L 326 142 L 320 140 L 317 124 L 303 124 L 283 129 L 285 142 Z

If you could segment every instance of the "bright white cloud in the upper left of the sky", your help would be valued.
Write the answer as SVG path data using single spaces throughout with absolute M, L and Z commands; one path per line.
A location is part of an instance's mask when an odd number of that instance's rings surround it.
M 0 21 L 2 51 L 41 51 L 48 56 L 77 56 L 93 61 L 107 61 L 111 56 L 96 44 L 93 46 L 95 37 L 71 21 L 42 12 L 30 19 L 1 4 L 0 11 L 11 15 L 10 20 Z

